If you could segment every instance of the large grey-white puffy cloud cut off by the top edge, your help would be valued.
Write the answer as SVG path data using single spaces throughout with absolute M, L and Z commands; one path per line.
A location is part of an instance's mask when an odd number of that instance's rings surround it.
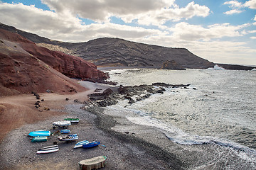
M 178 8 L 174 0 L 42 0 L 56 13 L 73 13 L 96 22 L 110 22 L 110 17 L 121 18 L 126 23 L 136 20 L 142 25 L 159 26 L 166 21 L 179 21 L 193 16 L 206 17 L 210 9 L 194 1 Z

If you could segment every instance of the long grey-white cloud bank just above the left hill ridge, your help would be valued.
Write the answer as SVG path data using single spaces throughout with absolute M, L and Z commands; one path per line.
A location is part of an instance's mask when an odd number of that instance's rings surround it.
M 82 25 L 71 13 L 43 11 L 35 6 L 6 4 L 0 6 L 0 21 L 18 29 L 36 33 L 53 40 L 81 42 L 100 37 L 143 38 L 164 32 L 115 23 Z

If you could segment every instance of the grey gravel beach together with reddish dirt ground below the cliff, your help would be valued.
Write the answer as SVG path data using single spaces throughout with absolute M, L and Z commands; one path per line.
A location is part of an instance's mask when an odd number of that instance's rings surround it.
M 75 99 L 85 101 L 87 94 L 92 93 L 96 87 L 102 90 L 107 88 L 106 85 L 96 86 L 92 83 L 84 86 L 90 90 L 75 95 L 40 94 L 44 99 L 41 108 L 47 107 L 50 111 L 40 112 L 34 108 L 37 100 L 33 94 L 1 98 L 1 107 L 9 106 L 4 111 L 12 113 L 8 121 L 1 119 L 1 128 L 7 128 L 1 134 L 5 135 L 0 145 L 1 169 L 79 169 L 78 162 L 81 160 L 102 155 L 107 155 L 105 168 L 102 169 L 184 168 L 181 159 L 161 148 L 166 142 L 169 148 L 178 145 L 170 142 L 155 128 L 135 125 L 124 115 L 104 115 L 102 108 L 95 108 L 91 112 L 80 109 L 83 104 L 74 103 Z M 69 98 L 69 101 L 65 98 Z M 78 134 L 78 141 L 97 140 L 101 145 L 92 149 L 73 149 L 75 142 L 58 141 L 59 152 L 36 154 L 38 149 L 53 145 L 57 137 L 50 136 L 47 142 L 33 143 L 28 133 L 35 130 L 53 132 L 53 121 L 72 117 L 80 118 L 80 123 L 69 127 L 72 133 Z

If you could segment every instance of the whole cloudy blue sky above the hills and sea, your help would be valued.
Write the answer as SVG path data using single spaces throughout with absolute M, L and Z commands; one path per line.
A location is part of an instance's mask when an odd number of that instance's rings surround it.
M 0 0 L 0 22 L 52 40 L 123 38 L 256 65 L 256 0 Z

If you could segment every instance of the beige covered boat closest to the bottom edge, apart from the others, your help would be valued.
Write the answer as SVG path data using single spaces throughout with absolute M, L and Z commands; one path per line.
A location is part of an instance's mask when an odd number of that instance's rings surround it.
M 100 169 L 105 166 L 107 156 L 93 157 L 79 162 L 80 169 Z

